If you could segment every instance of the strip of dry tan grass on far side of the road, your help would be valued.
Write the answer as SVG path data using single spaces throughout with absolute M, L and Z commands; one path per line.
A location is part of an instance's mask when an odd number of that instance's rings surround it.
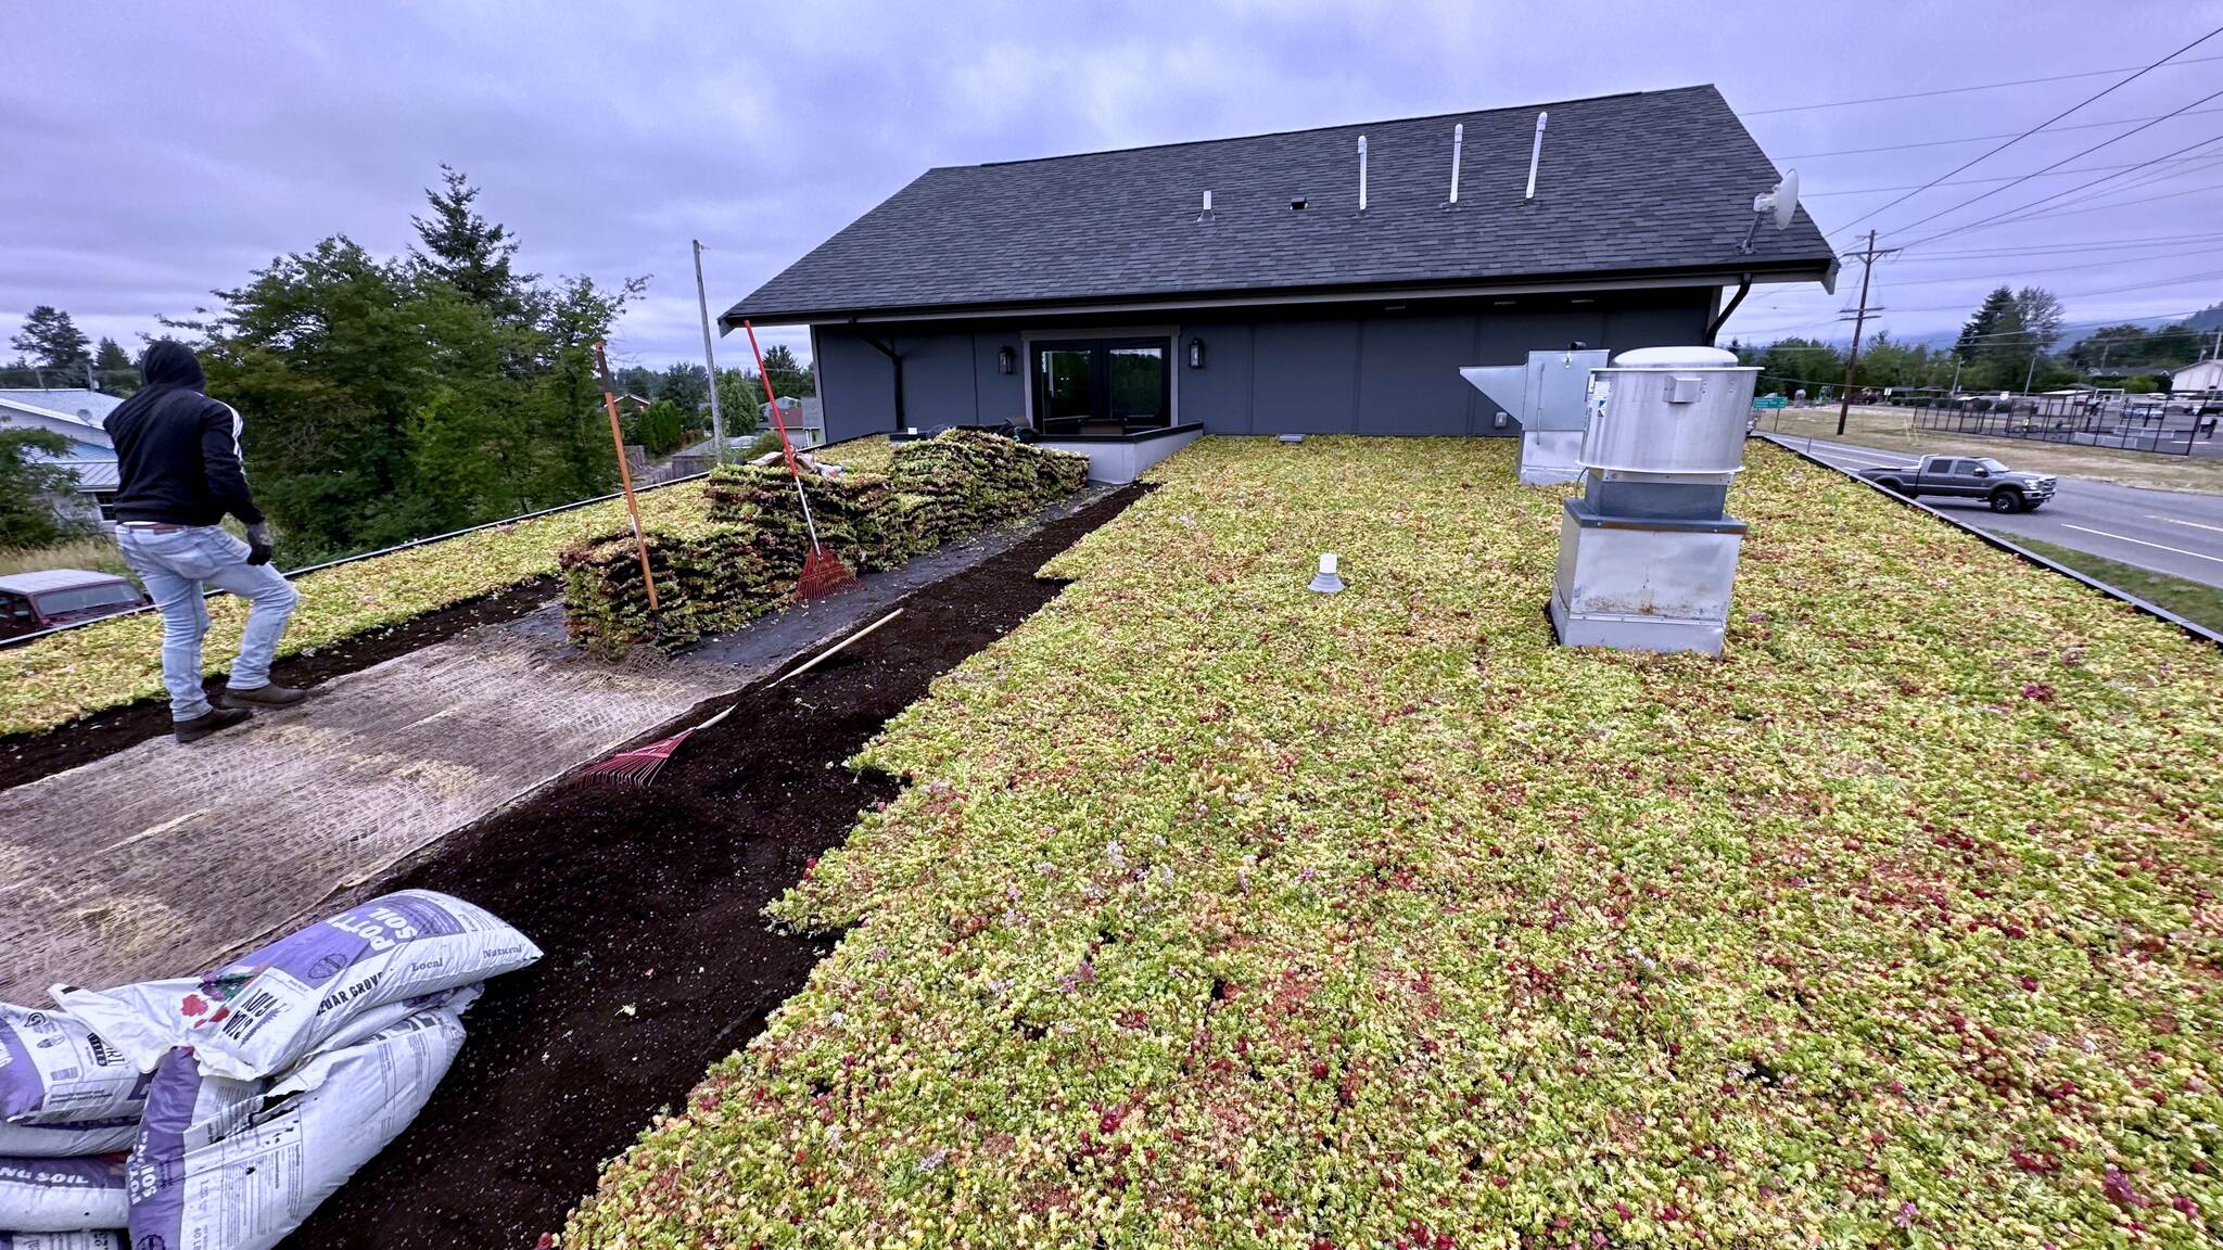
M 2223 492 L 2223 456 L 2154 456 L 2147 452 L 2116 452 L 2112 447 L 2065 447 L 2058 443 L 1932 434 L 1914 429 L 1914 409 L 1903 407 L 1854 407 L 1845 423 L 1845 434 L 1836 431 L 1834 407 L 1776 409 L 1761 418 L 1761 429 L 1785 438 L 1827 438 L 1914 456 L 1998 456 L 2016 469 L 2094 478 L 2123 487 Z

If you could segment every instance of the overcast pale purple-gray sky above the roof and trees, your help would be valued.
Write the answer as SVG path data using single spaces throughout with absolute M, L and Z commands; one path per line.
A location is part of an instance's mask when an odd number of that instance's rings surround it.
M 1703 13 L 1703 18 L 1698 18 Z M 687 240 L 731 305 L 929 165 L 1256 133 L 1716 82 L 1832 242 L 1916 242 L 1998 209 L 2058 216 L 1923 242 L 1876 267 L 1885 327 L 1958 325 L 1998 280 L 2070 323 L 2223 300 L 2223 98 L 1954 209 L 1947 185 L 1858 220 L 2121 76 L 1798 111 L 1905 91 L 2139 67 L 2223 27 L 2223 0 L 2010 4 L 133 4 L 0 13 L 0 329 L 71 311 L 133 351 L 282 251 L 347 234 L 382 251 L 438 165 L 542 274 L 649 274 L 620 358 L 700 358 Z M 2223 91 L 2223 36 L 2061 125 L 2152 118 Z M 2018 176 L 2130 125 L 2018 142 L 1956 178 Z M 1990 142 L 1950 142 L 1996 136 Z M 1898 151 L 1836 156 L 1887 145 Z M 1738 189 L 1745 194 L 1747 189 Z M 1750 191 L 1761 191 L 1752 187 Z M 2085 211 L 2094 209 L 2094 211 Z M 1850 229 L 1847 229 L 1850 227 Z M 2205 236 L 2107 247 L 2156 236 Z M 2032 247 L 2058 247 L 2030 254 Z M 2025 249 L 2018 256 L 1967 251 Z M 2210 278 L 2199 278 L 2210 276 Z M 1838 296 L 1763 287 L 1727 334 L 1834 334 Z M 800 338 L 800 336 L 798 336 Z M 796 338 L 796 340 L 798 340 Z M 800 340 L 798 340 L 800 345 Z M 745 343 L 718 343 L 740 363 Z

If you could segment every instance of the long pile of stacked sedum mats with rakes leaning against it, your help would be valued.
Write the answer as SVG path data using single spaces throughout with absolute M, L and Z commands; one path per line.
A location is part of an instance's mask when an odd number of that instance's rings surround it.
M 820 472 L 803 458 L 803 492 L 827 552 L 860 574 L 891 569 L 987 525 L 1027 516 L 1087 483 L 1087 456 L 969 429 L 894 449 L 891 476 Z M 794 601 L 811 549 L 796 478 L 767 456 L 725 465 L 705 487 L 709 525 L 649 532 L 658 609 L 649 612 L 631 532 L 560 556 L 571 638 L 600 658 L 640 643 L 682 647 Z

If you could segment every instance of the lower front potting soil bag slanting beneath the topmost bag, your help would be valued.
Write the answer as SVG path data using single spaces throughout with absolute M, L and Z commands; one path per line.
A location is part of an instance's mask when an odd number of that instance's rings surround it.
M 193 1052 L 173 1050 L 127 1165 L 131 1246 L 276 1246 L 416 1119 L 460 1048 L 456 1012 L 418 1012 L 205 1121 Z

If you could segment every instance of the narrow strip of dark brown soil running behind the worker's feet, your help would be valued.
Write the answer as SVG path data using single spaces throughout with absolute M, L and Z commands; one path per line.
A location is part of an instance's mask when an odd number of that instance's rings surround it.
M 554 601 L 556 592 L 556 578 L 547 576 L 467 598 L 385 629 L 327 643 L 316 654 L 287 656 L 271 665 L 271 681 L 280 685 L 316 685 L 347 672 L 367 669 L 418 647 L 429 647 L 473 625 L 516 621 Z M 222 685 L 225 678 L 220 676 L 207 681 L 211 694 Z M 138 703 L 80 716 L 44 734 L 4 734 L 0 736 L 0 790 L 111 756 L 167 732 L 169 701 L 140 698 Z

